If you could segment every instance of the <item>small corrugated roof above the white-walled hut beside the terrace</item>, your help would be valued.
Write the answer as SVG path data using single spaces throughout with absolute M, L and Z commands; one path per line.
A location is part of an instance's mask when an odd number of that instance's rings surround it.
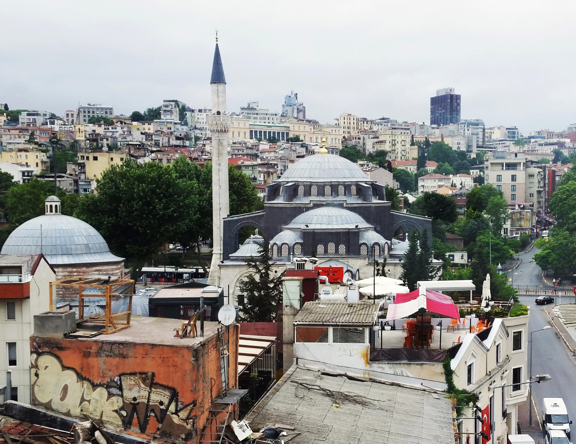
M 379 304 L 374 301 L 309 301 L 298 312 L 294 323 L 330 323 L 372 325 Z

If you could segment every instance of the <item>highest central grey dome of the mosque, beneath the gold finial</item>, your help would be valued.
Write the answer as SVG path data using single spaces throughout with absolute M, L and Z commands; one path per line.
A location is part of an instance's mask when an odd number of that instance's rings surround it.
M 295 162 L 278 182 L 364 182 L 366 173 L 350 160 L 334 154 L 316 154 Z

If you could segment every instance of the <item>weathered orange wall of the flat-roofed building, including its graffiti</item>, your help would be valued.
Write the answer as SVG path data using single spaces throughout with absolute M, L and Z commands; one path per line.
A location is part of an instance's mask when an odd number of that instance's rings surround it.
M 223 331 L 226 335 L 226 328 Z M 238 324 L 230 326 L 228 373 L 230 388 L 237 386 L 238 331 Z M 214 398 L 222 393 L 220 355 L 216 335 L 196 347 L 184 344 L 183 346 L 165 346 L 33 336 L 31 353 L 33 404 L 44 405 L 44 407 L 69 416 L 86 414 L 91 418 L 104 420 L 108 426 L 119 431 L 124 429 L 125 432 L 139 437 L 164 436 L 178 441 L 199 442 L 210 408 L 211 386 L 213 386 Z M 62 368 L 56 361 L 61 363 Z M 35 362 L 37 365 L 34 365 Z M 74 384 L 74 372 L 78 384 Z M 179 418 L 173 416 L 178 420 L 177 425 L 173 424 L 171 419 L 162 424 L 159 420 L 162 416 L 161 412 L 148 416 L 149 422 L 144 432 L 141 430 L 141 424 L 138 423 L 136 417 L 138 415 L 135 415 L 131 424 L 118 423 L 122 422 L 122 419 L 117 418 L 119 414 L 110 413 L 114 407 L 109 406 L 116 403 L 118 407 L 127 389 L 124 386 L 124 391 L 119 395 L 118 389 L 113 387 L 123 374 L 135 373 L 138 373 L 138 377 L 144 381 L 148 376 L 142 376 L 142 374 L 149 373 L 153 382 L 158 384 L 161 390 L 165 389 L 172 393 L 177 391 L 177 400 L 173 401 L 172 407 L 188 406 L 185 409 L 185 418 L 181 418 L 181 423 Z M 88 381 L 83 382 L 84 378 Z M 123 378 L 134 377 L 124 376 Z M 89 389 L 86 386 L 89 386 Z M 103 389 L 107 393 L 103 392 Z M 74 396 L 78 390 L 84 390 L 88 394 L 79 395 L 76 401 Z M 70 397 L 70 402 L 67 397 Z M 126 402 L 125 399 L 124 402 Z M 80 404 L 78 411 L 75 410 L 77 404 Z M 102 409 L 104 404 L 108 407 Z M 166 404 L 167 402 L 164 405 Z M 160 409 L 160 407 L 156 408 Z M 176 414 L 184 415 L 177 412 Z

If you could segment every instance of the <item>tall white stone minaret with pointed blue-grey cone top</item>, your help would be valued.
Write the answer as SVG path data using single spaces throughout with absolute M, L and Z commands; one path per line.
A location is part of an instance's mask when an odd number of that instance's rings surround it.
M 226 114 L 226 79 L 218 49 L 218 33 L 216 34 L 210 88 L 212 90 L 212 114 L 208 117 L 208 128 L 212 133 L 212 240 L 214 250 L 208 284 L 220 285 L 219 263 L 222 261 L 223 218 L 230 213 L 228 189 L 228 129 L 230 128 L 230 118 Z

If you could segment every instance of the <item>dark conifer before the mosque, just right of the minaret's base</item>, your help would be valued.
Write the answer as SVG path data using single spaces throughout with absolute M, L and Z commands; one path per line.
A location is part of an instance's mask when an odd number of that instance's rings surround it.
M 238 300 L 238 307 L 243 321 L 272 322 L 276 320 L 278 305 L 282 302 L 282 278 L 286 271 L 274 275 L 266 239 L 259 253 L 260 258 L 246 261 L 252 273 L 238 284 L 238 289 L 244 293 L 244 300 Z

